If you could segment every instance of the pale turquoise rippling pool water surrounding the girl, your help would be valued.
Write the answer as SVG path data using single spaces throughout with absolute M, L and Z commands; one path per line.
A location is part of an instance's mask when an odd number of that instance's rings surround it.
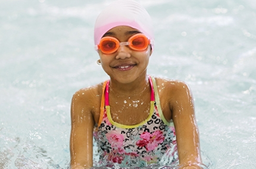
M 111 1 L 0 1 L 0 168 L 67 168 L 73 93 L 108 78 L 93 24 Z M 255 168 L 256 3 L 141 0 L 148 73 L 186 81 L 209 168 Z

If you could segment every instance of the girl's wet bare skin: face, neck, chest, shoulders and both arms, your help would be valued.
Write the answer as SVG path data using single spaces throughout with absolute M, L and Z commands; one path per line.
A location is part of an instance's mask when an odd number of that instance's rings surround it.
M 111 29 L 104 36 L 113 36 L 120 42 L 126 42 L 136 33 L 139 31 L 120 26 Z M 146 69 L 151 53 L 150 46 L 140 52 L 130 49 L 129 46 L 120 46 L 111 55 L 105 55 L 99 50 L 102 68 L 110 76 L 111 117 L 115 122 L 135 125 L 148 117 L 151 91 Z M 174 122 L 180 165 L 183 168 L 192 168 L 188 165 L 200 164 L 201 155 L 191 91 L 182 81 L 155 79 L 164 117 L 167 120 L 173 119 Z M 71 168 L 90 168 L 93 165 L 92 133 L 93 127 L 99 121 L 101 96 L 102 84 L 83 88 L 73 95 Z M 200 168 L 198 165 L 193 167 Z

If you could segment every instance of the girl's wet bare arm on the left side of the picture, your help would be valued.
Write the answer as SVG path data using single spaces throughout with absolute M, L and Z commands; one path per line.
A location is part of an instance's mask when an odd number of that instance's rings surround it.
M 78 91 L 71 102 L 70 169 L 90 168 L 93 165 L 93 126 L 90 101 L 85 91 Z

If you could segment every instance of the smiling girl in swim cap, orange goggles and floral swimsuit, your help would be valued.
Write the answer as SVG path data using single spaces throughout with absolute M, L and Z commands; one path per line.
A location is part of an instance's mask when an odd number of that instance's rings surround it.
M 149 164 L 201 168 L 193 98 L 184 82 L 146 73 L 154 50 L 148 12 L 135 1 L 109 5 L 95 23 L 95 49 L 110 80 L 83 88 L 71 103 L 71 168 Z

